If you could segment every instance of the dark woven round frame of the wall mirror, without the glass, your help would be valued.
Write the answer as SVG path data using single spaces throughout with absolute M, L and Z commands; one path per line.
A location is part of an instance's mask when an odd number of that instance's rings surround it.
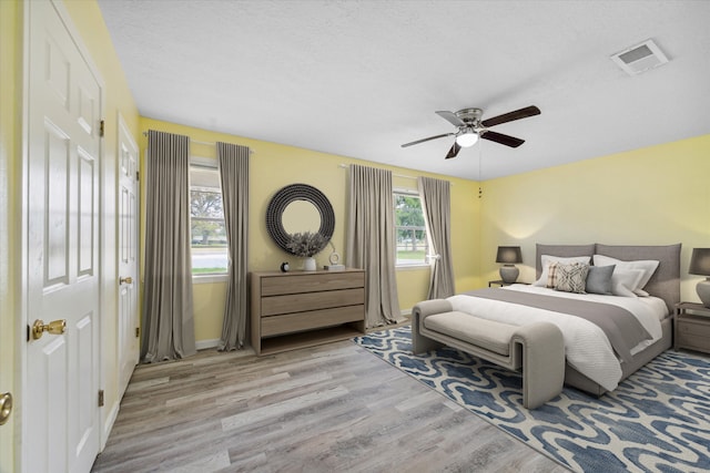
M 284 228 L 283 214 L 288 204 L 296 200 L 310 202 L 321 214 L 321 227 L 317 233 L 325 238 L 322 250 L 333 238 L 335 213 L 325 194 L 307 184 L 291 184 L 274 194 L 268 207 L 266 207 L 266 232 L 281 249 L 293 255 L 293 251 L 286 246 L 291 241 L 291 234 Z M 311 232 L 313 233 L 313 230 Z

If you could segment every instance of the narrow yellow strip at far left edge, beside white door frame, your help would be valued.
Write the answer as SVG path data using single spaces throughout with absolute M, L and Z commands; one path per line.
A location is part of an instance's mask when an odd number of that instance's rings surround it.
M 19 133 L 21 123 L 21 34 L 22 9 L 13 1 L 0 1 L 0 393 L 11 392 L 16 405 L 20 395 L 20 379 L 16 367 L 16 354 L 20 349 L 18 306 L 16 291 L 18 275 L 17 195 L 21 150 Z M 0 472 L 14 471 L 13 438 L 18 410 L 4 425 L 0 426 Z

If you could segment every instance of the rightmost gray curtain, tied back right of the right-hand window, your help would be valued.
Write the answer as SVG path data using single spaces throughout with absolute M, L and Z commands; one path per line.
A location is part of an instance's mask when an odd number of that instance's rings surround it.
M 455 294 L 450 183 L 433 177 L 418 177 L 417 185 L 433 261 L 428 298 L 443 299 Z

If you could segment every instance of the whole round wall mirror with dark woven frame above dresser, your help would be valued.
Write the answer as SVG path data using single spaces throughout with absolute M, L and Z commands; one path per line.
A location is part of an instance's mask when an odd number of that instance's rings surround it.
M 335 213 L 328 198 L 307 184 L 292 184 L 280 189 L 266 208 L 266 230 L 281 249 L 294 255 L 288 248 L 292 235 L 306 232 L 323 236 L 322 248 L 333 237 Z

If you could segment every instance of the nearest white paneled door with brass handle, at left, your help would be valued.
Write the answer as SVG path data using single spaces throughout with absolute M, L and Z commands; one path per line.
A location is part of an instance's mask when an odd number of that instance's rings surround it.
M 27 2 L 22 470 L 91 470 L 99 452 L 101 86 L 57 7 Z M 65 321 L 61 332 L 60 323 Z M 38 322 L 39 323 L 39 322 Z

